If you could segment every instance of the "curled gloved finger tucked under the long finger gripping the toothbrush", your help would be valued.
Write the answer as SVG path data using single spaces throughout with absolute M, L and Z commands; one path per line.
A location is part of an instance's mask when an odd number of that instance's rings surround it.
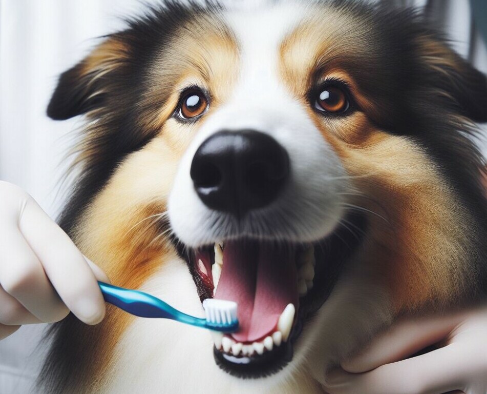
M 65 318 L 68 308 L 51 286 L 43 266 L 22 233 L 17 228 L 2 228 L 0 234 L 3 255 L 0 285 L 40 321 L 57 322 Z

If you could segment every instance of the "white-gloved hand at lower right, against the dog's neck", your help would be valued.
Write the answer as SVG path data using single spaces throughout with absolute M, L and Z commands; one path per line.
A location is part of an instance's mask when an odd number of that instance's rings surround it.
M 342 368 L 328 377 L 330 394 L 486 394 L 487 306 L 398 322 Z

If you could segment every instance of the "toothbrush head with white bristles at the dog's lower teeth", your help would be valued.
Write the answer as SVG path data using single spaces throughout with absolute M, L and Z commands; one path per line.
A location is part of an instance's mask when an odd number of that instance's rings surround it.
M 203 301 L 203 309 L 206 328 L 223 332 L 234 332 L 239 328 L 236 302 L 207 298 Z

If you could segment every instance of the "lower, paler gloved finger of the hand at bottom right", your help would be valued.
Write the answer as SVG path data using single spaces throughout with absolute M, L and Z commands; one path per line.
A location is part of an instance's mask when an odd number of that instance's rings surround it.
M 454 343 L 370 372 L 332 371 L 325 388 L 331 394 L 443 394 L 462 388 L 468 357 Z

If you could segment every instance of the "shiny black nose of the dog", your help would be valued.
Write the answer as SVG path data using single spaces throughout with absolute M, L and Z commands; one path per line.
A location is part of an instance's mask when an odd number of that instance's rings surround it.
M 190 173 L 207 207 L 240 217 L 277 199 L 289 177 L 289 156 L 267 134 L 224 130 L 200 145 Z

